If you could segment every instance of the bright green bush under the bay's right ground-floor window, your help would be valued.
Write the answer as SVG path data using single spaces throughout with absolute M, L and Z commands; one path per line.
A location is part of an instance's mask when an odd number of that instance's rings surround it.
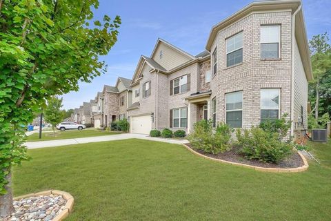
M 262 128 L 263 131 L 266 131 L 270 135 L 272 135 L 273 133 L 278 133 L 279 140 L 282 140 L 283 137 L 285 137 L 288 133 L 288 130 L 290 130 L 291 128 L 291 122 L 290 120 L 287 120 L 286 117 L 288 117 L 287 113 L 281 116 L 280 119 L 262 122 L 260 124 L 260 128 Z

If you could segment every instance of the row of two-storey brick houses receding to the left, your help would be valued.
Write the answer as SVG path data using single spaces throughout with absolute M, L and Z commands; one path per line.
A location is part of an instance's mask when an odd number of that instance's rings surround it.
M 257 1 L 213 26 L 199 55 L 158 39 L 132 79 L 104 86 L 77 115 L 95 127 L 127 118 L 131 133 L 148 134 L 189 133 L 201 119 L 250 128 L 286 113 L 294 135 L 307 128 L 311 79 L 301 1 Z

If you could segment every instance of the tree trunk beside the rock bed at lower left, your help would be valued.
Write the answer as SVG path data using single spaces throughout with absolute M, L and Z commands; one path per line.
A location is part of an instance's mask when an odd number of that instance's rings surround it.
M 7 193 L 5 195 L 0 195 L 0 218 L 6 218 L 12 213 L 15 209 L 12 205 L 12 172 L 8 173 L 6 176 L 8 184 L 5 186 Z

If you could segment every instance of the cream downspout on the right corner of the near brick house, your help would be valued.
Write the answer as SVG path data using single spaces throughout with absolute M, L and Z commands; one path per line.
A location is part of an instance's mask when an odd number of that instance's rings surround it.
M 291 70 L 291 131 L 290 136 L 294 135 L 294 50 L 295 50 L 295 16 L 301 10 L 301 6 L 292 15 L 292 70 Z

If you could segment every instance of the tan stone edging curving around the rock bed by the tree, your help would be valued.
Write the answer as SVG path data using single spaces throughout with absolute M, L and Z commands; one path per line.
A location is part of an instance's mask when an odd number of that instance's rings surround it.
M 65 200 L 67 200 L 66 204 L 64 205 L 65 207 L 64 207 L 63 211 L 61 211 L 61 213 L 59 213 L 56 217 L 54 217 L 52 219 L 52 221 L 64 220 L 65 218 L 68 217 L 69 213 L 72 213 L 72 207 L 74 206 L 74 198 L 72 197 L 72 195 L 70 195 L 70 193 L 67 193 L 64 191 L 49 190 L 49 191 L 41 191 L 38 193 L 20 195 L 20 196 L 14 198 L 14 200 L 21 200 L 23 198 L 31 198 L 31 197 L 38 196 L 38 195 L 51 195 L 51 194 L 61 195 Z

